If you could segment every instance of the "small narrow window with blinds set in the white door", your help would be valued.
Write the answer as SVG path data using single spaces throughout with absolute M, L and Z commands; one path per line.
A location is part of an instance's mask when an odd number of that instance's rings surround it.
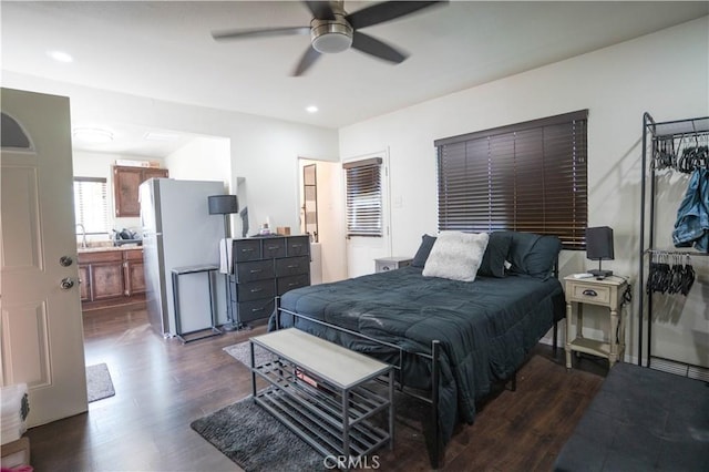
M 347 236 L 382 236 L 381 157 L 342 164 L 347 193 Z

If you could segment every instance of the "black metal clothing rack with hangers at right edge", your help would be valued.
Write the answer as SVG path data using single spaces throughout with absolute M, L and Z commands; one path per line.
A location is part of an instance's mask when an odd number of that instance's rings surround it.
M 657 253 L 680 256 L 707 256 L 708 254 L 692 250 L 664 250 L 655 247 L 655 204 L 656 204 L 656 173 L 669 168 L 679 172 L 692 172 L 698 167 L 709 166 L 709 116 L 656 122 L 653 116 L 643 114 L 643 181 L 640 184 L 640 278 L 638 296 L 638 366 L 643 366 L 643 340 L 647 336 L 647 366 L 653 358 L 653 295 L 647 297 L 647 332 L 643 327 L 644 298 L 647 289 L 645 257 Z M 649 172 L 648 172 L 649 170 Z M 649 205 L 646 202 L 646 181 L 649 179 Z M 646 219 L 648 219 L 646 222 Z M 646 240 L 646 223 L 648 235 Z

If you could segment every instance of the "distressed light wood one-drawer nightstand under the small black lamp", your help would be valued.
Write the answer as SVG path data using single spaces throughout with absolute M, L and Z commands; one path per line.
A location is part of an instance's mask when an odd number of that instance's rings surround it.
M 608 359 L 613 367 L 623 358 L 625 351 L 625 322 L 621 307 L 624 294 L 628 286 L 625 278 L 618 276 L 606 277 L 602 280 L 595 278 L 564 278 L 566 290 L 566 368 L 572 368 L 572 351 L 586 352 Z M 574 302 L 578 306 L 576 320 L 576 338 L 572 335 L 572 318 Z M 607 332 L 607 341 L 596 341 L 584 338 L 584 304 L 607 307 L 610 311 L 610 332 Z

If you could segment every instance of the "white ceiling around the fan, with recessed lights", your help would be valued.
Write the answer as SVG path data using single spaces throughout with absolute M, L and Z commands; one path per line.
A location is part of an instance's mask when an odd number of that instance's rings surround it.
M 3 0 L 0 9 L 3 71 L 337 129 L 709 14 L 709 2 L 452 1 L 362 30 L 407 51 L 403 63 L 350 50 L 323 55 L 299 78 L 290 73 L 308 37 L 210 35 L 308 25 L 311 16 L 296 1 Z M 74 61 L 59 63 L 50 50 Z M 318 113 L 305 111 L 311 104 Z M 129 147 L 164 153 L 152 144 Z

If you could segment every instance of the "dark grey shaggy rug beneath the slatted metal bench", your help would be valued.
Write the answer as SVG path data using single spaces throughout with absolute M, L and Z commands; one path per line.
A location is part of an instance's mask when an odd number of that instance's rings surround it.
M 325 471 L 323 456 L 248 397 L 192 429 L 246 472 Z

